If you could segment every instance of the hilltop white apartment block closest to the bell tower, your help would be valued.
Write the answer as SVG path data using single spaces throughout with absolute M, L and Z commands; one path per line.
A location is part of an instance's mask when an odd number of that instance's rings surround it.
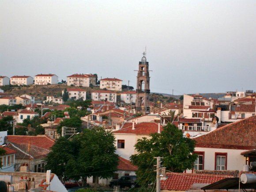
M 122 80 L 117 78 L 105 78 L 100 80 L 100 89 L 122 91 Z

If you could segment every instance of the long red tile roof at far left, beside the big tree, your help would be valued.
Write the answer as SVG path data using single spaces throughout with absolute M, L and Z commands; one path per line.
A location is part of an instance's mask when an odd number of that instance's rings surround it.
M 44 149 L 50 149 L 53 146 L 54 140 L 49 137 L 42 136 L 7 136 L 8 142 L 16 143 L 16 144 L 27 144 L 30 142 L 30 145 L 34 145 L 36 147 L 41 147 Z

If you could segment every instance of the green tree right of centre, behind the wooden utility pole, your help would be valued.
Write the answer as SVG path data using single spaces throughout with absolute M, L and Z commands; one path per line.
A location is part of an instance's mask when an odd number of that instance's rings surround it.
M 138 166 L 137 179 L 141 186 L 154 183 L 156 163 L 154 157 L 163 157 L 162 165 L 172 172 L 192 169 L 197 155 L 192 154 L 195 141 L 184 138 L 181 130 L 167 124 L 163 131 L 151 134 L 151 138 L 138 139 L 135 147 L 138 154 L 131 156 L 131 161 Z

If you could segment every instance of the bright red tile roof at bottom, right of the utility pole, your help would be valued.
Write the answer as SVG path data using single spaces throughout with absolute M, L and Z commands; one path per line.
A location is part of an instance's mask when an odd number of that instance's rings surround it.
M 223 175 L 195 174 L 195 173 L 166 173 L 168 177 L 161 181 L 162 190 L 187 191 L 193 184 L 211 184 L 227 177 Z

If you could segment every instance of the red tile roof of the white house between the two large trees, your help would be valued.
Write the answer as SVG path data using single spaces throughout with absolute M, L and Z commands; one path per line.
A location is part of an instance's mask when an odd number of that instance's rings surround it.
M 122 128 L 120 130 L 114 131 L 113 133 L 126 133 L 126 134 L 137 134 L 137 135 L 149 135 L 151 133 L 158 132 L 158 123 L 143 122 L 134 125 L 134 130 L 132 130 L 132 125 L 127 128 Z M 162 132 L 163 126 L 160 125 L 160 132 Z

